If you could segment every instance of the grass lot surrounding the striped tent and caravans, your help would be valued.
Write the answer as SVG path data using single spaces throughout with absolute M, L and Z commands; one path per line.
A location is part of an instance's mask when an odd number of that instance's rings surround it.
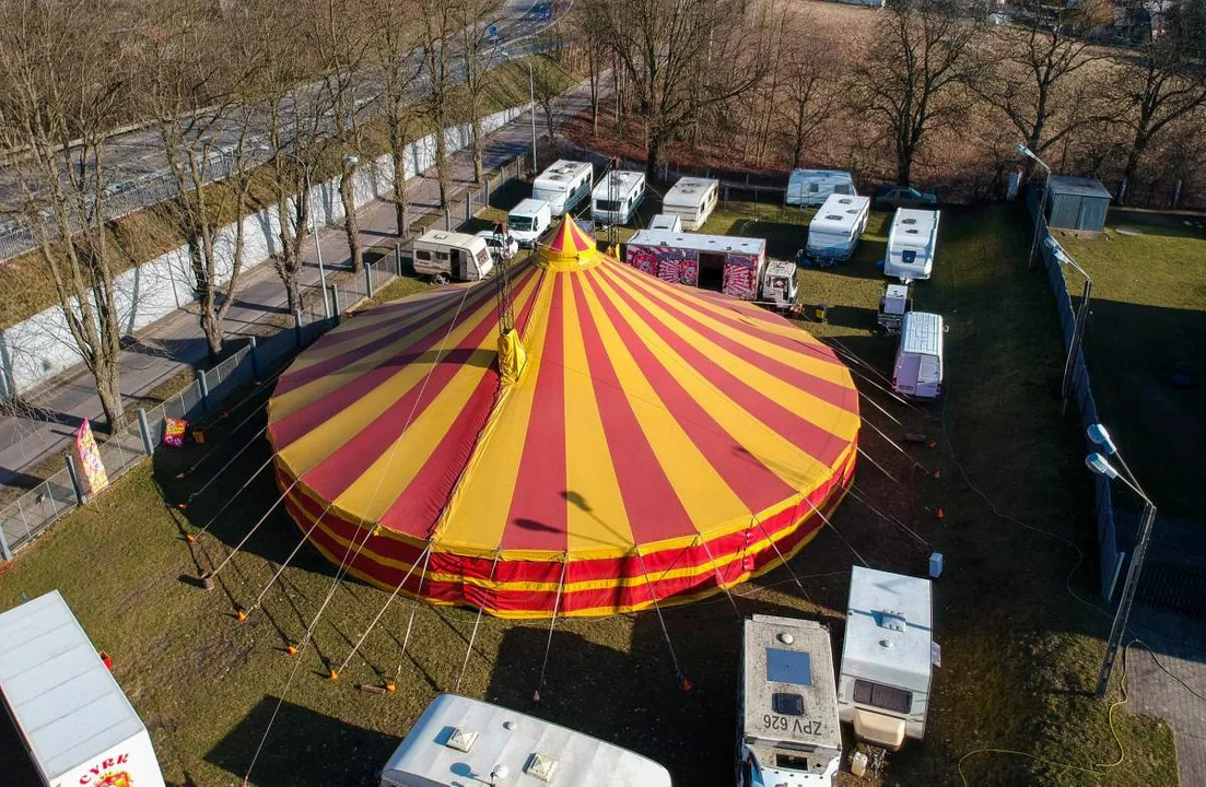
M 707 229 L 760 234 L 771 239 L 772 253 L 786 256 L 803 245 L 806 219 L 777 206 L 734 204 Z M 829 323 L 807 327 L 880 374 L 894 348 L 871 330 L 884 281 L 874 268 L 883 222 L 877 215 L 850 264 L 801 271 L 804 300 L 831 306 Z M 882 783 L 960 785 L 956 764 L 966 757 L 970 785 L 1176 785 L 1169 728 L 1116 711 L 1119 750 L 1108 705 L 1091 695 L 1106 619 L 1069 592 L 1094 600 L 1090 484 L 1079 435 L 1071 419 L 1060 419 L 1046 382 L 1061 368 L 1061 352 L 1046 280 L 1025 266 L 1025 219 L 993 206 L 949 211 L 943 227 L 935 280 L 919 283 L 915 299 L 950 324 L 947 397 L 930 407 L 903 406 L 867 383 L 874 372 L 860 371 L 868 424 L 896 441 L 924 431 L 937 446 L 907 444 L 906 457 L 866 428 L 865 450 L 892 477 L 860 465 L 833 530 L 822 530 L 794 560 L 807 597 L 778 569 L 738 588 L 733 600 L 740 615 L 827 621 L 839 647 L 849 566 L 857 559 L 851 546 L 876 568 L 912 574 L 924 574 L 931 548 L 866 501 L 946 556 L 935 587 L 942 668 L 926 739 L 890 756 Z M 235 424 L 244 412 L 219 424 Z M 153 468 L 131 472 L 0 574 L 0 609 L 23 593 L 63 591 L 96 646 L 113 656 L 170 783 L 240 783 L 279 703 L 252 783 L 371 783 L 431 698 L 457 686 L 649 754 L 677 783 L 732 783 L 739 626 L 724 597 L 666 612 L 693 686 L 683 691 L 656 615 L 558 621 L 539 686 L 546 622 L 478 623 L 468 610 L 412 607 L 402 599 L 330 682 L 328 669 L 344 660 L 387 594 L 333 583 L 333 568 L 303 547 L 256 606 L 299 544 L 280 511 L 268 513 L 215 589 L 195 587 L 191 577 L 222 560 L 276 499 L 267 474 L 254 476 L 268 459 L 256 437 L 262 427 L 256 418 L 226 442 L 216 428 L 215 458 L 185 478 L 176 476 L 204 456 L 200 448 L 160 452 Z M 248 442 L 187 510 L 176 507 Z M 245 482 L 246 492 L 236 494 Z M 211 521 L 195 544 L 181 539 Z M 328 593 L 312 645 L 287 656 Z M 253 607 L 244 623 L 234 618 L 240 606 Z M 356 688 L 388 680 L 397 693 Z M 1120 754 L 1117 767 L 1096 765 Z M 874 782 L 843 775 L 843 783 Z

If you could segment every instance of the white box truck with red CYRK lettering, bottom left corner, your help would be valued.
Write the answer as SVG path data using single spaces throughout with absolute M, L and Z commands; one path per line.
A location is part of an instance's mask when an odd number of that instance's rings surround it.
M 164 787 L 146 727 L 58 591 L 0 613 L 0 694 L 46 787 Z

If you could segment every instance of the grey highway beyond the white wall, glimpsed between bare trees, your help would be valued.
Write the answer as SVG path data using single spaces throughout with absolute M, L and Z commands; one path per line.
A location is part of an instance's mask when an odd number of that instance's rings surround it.
M 541 0 L 505 0 L 503 2 L 493 22 L 498 30 L 498 36 L 496 40 L 488 40 L 486 43 L 490 47 L 493 63 L 502 64 L 513 57 L 523 57 L 531 52 L 531 46 L 525 46 L 522 42 L 528 41 L 551 24 L 549 19 L 541 17 L 539 11 L 541 5 L 544 5 Z M 531 45 L 532 42 L 529 41 L 528 43 Z M 455 45 L 456 42 L 453 42 Z M 417 51 L 414 53 L 416 65 L 418 54 Z M 464 78 L 463 61 L 453 65 L 452 74 L 453 80 Z M 300 92 L 299 100 L 306 102 L 318 101 L 321 100 L 318 98 L 320 93 L 321 83 L 315 83 L 306 90 Z M 429 84 L 425 75 L 416 81 L 412 87 L 412 94 L 418 100 L 428 93 Z M 356 99 L 358 117 L 367 119 L 376 113 L 375 99 L 379 95 L 380 90 L 371 82 L 365 82 L 359 87 Z M 229 154 L 238 148 L 241 136 L 240 129 L 244 124 L 247 124 L 251 129 L 250 141 L 245 141 L 245 149 L 250 149 L 251 153 L 246 153 L 246 155 L 263 160 L 271 158 L 273 151 L 269 149 L 267 143 L 268 129 L 257 129 L 254 118 L 247 123 L 244 113 L 248 111 L 253 110 L 235 107 L 229 111 L 229 118 L 182 122 L 186 133 L 195 134 L 204 131 L 204 147 L 210 148 L 209 153 L 206 153 L 209 164 L 205 166 L 205 178 L 207 181 L 221 180 L 229 174 L 233 163 Z M 282 125 L 285 128 L 288 128 L 293 123 L 294 111 L 299 112 L 300 117 L 298 119 L 305 125 L 306 117 L 314 110 L 309 106 L 299 107 L 294 102 L 293 96 L 287 98 L 282 101 L 281 106 Z M 328 111 L 324 118 L 326 128 L 320 131 L 320 136 L 335 131 L 333 112 Z M 297 127 L 294 125 L 294 128 Z M 299 130 L 298 139 L 300 140 L 302 136 L 309 140 L 311 134 L 309 130 Z M 306 141 L 302 141 L 300 143 L 306 143 Z M 163 143 L 153 125 L 131 128 L 129 131 L 115 137 L 107 147 L 109 171 L 119 175 L 119 178 L 115 175 L 110 176 L 115 182 L 106 189 L 105 215 L 107 218 L 119 218 L 175 195 L 175 186 L 168 172 L 168 161 L 164 157 Z M 18 164 L 7 163 L 0 165 L 0 215 L 14 212 L 19 209 L 23 193 L 23 189 L 19 187 L 21 178 L 22 168 Z M 0 219 L 0 260 L 14 257 L 30 248 L 34 248 L 33 237 L 19 223 Z

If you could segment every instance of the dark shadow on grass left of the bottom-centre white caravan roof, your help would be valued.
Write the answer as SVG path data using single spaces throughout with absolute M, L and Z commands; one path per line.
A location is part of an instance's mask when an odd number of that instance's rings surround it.
M 247 771 L 277 698 L 267 695 L 205 760 L 241 777 Z M 400 739 L 343 720 L 281 703 L 273 738 L 256 760 L 252 781 L 271 787 L 293 785 L 371 785 Z

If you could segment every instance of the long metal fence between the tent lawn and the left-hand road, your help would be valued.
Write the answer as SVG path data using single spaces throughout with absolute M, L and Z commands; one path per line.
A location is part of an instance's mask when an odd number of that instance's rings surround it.
M 457 207 L 449 209 L 443 216 L 435 215 L 435 222 L 449 228 L 461 227 L 474 211 L 488 204 L 494 190 L 520 176 L 522 161 L 528 155 L 531 148 L 520 152 L 486 183 L 466 192 Z M 306 288 L 293 327 L 268 336 L 246 337 L 245 346 L 213 369 L 198 371 L 197 378 L 183 390 L 162 404 L 140 410 L 124 429 L 100 445 L 110 481 L 119 478 L 154 453 L 163 444 L 166 418 L 206 421 L 219 412 L 228 399 L 262 380 L 267 369 L 282 363 L 339 324 L 343 315 L 353 306 L 364 299 L 380 296 L 386 286 L 409 270 L 404 263 L 405 254 L 403 243 L 397 242 L 391 253 L 371 263 L 365 262 L 361 274 L 330 277 L 335 281 L 328 280 L 327 293 L 322 293 L 321 287 Z M 236 342 L 239 337 L 228 341 Z M 0 559 L 12 559 L 16 551 L 87 498 L 86 489 L 72 481 L 69 468 L 64 466 L 0 510 Z

